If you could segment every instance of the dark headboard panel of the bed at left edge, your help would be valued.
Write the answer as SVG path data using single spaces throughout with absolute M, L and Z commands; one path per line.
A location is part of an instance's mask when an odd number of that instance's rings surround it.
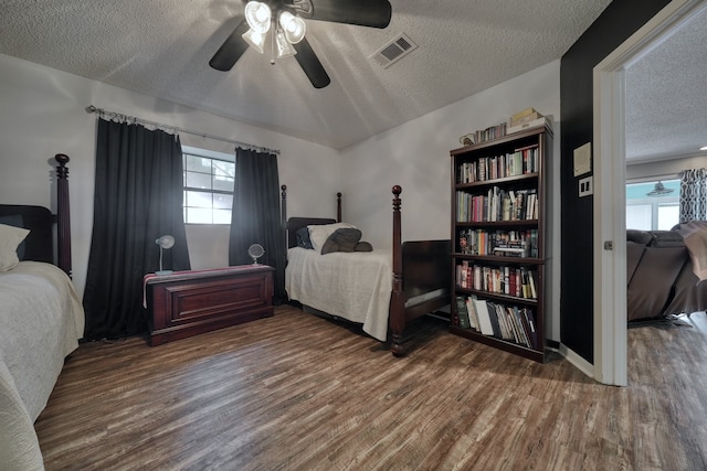
M 54 221 L 52 212 L 43 206 L 0 204 L 0 223 L 30 229 L 24 239 L 23 260 L 54 263 Z

